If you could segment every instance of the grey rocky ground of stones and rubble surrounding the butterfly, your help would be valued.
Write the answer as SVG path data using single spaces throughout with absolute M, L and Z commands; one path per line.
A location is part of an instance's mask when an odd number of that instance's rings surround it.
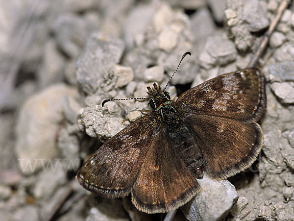
M 245 68 L 280 0 L 22 0 L 0 3 L 0 217 L 7 221 L 151 221 L 130 197 L 105 199 L 74 179 L 105 140 L 140 118 L 154 81 L 175 98 Z M 294 5 L 259 67 L 267 79 L 264 147 L 174 220 L 294 219 Z M 125 121 L 127 119 L 127 121 Z M 233 184 L 233 185 L 232 185 Z M 239 196 L 239 197 L 238 197 Z

